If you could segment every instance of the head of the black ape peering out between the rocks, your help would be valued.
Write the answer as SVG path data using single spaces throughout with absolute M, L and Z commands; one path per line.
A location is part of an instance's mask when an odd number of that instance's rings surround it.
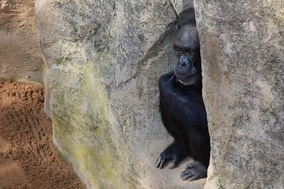
M 178 57 L 175 76 L 180 83 L 192 85 L 201 79 L 200 42 L 194 25 L 183 25 L 173 47 Z

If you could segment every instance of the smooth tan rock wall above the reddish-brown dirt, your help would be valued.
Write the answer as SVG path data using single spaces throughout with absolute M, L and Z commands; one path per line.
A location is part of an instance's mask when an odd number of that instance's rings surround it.
M 43 83 L 34 0 L 0 0 L 0 78 Z

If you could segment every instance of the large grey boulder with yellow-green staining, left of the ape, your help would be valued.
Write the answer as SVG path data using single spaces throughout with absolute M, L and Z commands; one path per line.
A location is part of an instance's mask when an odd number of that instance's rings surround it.
M 88 188 L 202 188 L 155 168 L 172 138 L 158 79 L 175 63 L 177 13 L 188 1 L 38 0 L 46 113 L 54 142 Z

